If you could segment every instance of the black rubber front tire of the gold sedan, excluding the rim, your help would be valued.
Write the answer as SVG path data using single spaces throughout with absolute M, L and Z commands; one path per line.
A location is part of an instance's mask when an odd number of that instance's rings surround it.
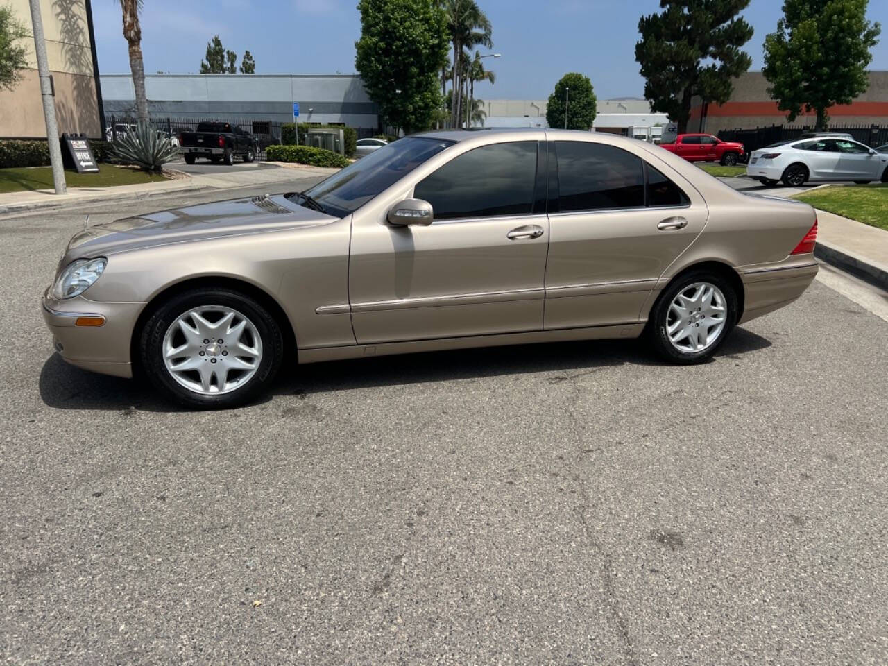
M 215 394 L 193 391 L 180 385 L 163 361 L 163 340 L 173 322 L 190 309 L 210 305 L 242 313 L 258 331 L 262 343 L 262 356 L 255 374 L 242 386 Z M 280 324 L 253 298 L 234 289 L 190 289 L 171 297 L 151 314 L 139 337 L 139 356 L 141 368 L 165 397 L 188 407 L 222 409 L 242 405 L 268 389 L 281 367 L 283 346 Z M 207 355 L 202 354 L 204 359 Z

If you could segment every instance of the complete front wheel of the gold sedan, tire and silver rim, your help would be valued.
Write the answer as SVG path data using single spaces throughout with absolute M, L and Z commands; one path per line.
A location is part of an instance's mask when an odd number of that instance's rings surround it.
M 140 337 L 142 368 L 168 398 L 189 407 L 230 408 L 267 389 L 281 365 L 281 327 L 234 289 L 172 297 Z

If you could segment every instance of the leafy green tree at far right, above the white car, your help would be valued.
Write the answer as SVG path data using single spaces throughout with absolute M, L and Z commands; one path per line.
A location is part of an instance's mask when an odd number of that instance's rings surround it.
M 869 50 L 882 27 L 867 20 L 868 0 L 785 0 L 777 31 L 765 37 L 765 67 L 789 122 L 817 113 L 817 129 L 829 123 L 827 109 L 851 104 L 867 90 Z

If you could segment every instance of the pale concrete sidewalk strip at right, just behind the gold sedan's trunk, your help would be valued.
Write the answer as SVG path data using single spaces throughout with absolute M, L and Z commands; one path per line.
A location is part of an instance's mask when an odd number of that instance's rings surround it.
M 888 291 L 888 232 L 817 210 L 814 256 Z

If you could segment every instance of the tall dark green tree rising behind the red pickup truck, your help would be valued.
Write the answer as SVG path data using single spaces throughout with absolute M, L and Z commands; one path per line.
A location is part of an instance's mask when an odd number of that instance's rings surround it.
M 687 130 L 691 99 L 724 104 L 733 79 L 752 64 L 741 46 L 752 27 L 738 14 L 749 0 L 660 0 L 659 14 L 638 21 L 635 59 L 645 77 L 651 108 Z

